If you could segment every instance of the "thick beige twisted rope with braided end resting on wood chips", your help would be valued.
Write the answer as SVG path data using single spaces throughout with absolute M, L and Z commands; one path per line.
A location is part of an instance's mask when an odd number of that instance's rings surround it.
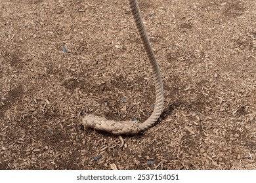
M 133 14 L 133 20 L 139 32 L 140 39 L 142 41 L 144 50 L 146 51 L 147 57 L 150 61 L 150 65 L 153 70 L 154 84 L 156 88 L 156 105 L 151 116 L 143 123 L 138 121 L 125 121 L 125 122 L 115 122 L 113 120 L 107 120 L 104 117 L 98 117 L 93 114 L 85 116 L 80 123 L 84 127 L 92 127 L 101 131 L 108 131 L 116 135 L 120 134 L 136 134 L 140 131 L 144 131 L 158 120 L 163 110 L 163 83 L 161 80 L 161 73 L 156 61 L 156 56 L 148 39 L 146 33 L 146 28 L 142 21 L 142 16 L 140 14 L 140 9 L 137 0 L 129 0 L 129 7 L 131 13 Z

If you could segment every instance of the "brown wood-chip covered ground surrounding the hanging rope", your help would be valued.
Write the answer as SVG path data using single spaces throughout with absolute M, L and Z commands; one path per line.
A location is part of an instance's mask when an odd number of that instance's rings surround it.
M 256 169 L 256 1 L 139 5 L 165 110 L 120 148 L 77 124 L 153 110 L 127 1 L 0 0 L 0 169 Z

